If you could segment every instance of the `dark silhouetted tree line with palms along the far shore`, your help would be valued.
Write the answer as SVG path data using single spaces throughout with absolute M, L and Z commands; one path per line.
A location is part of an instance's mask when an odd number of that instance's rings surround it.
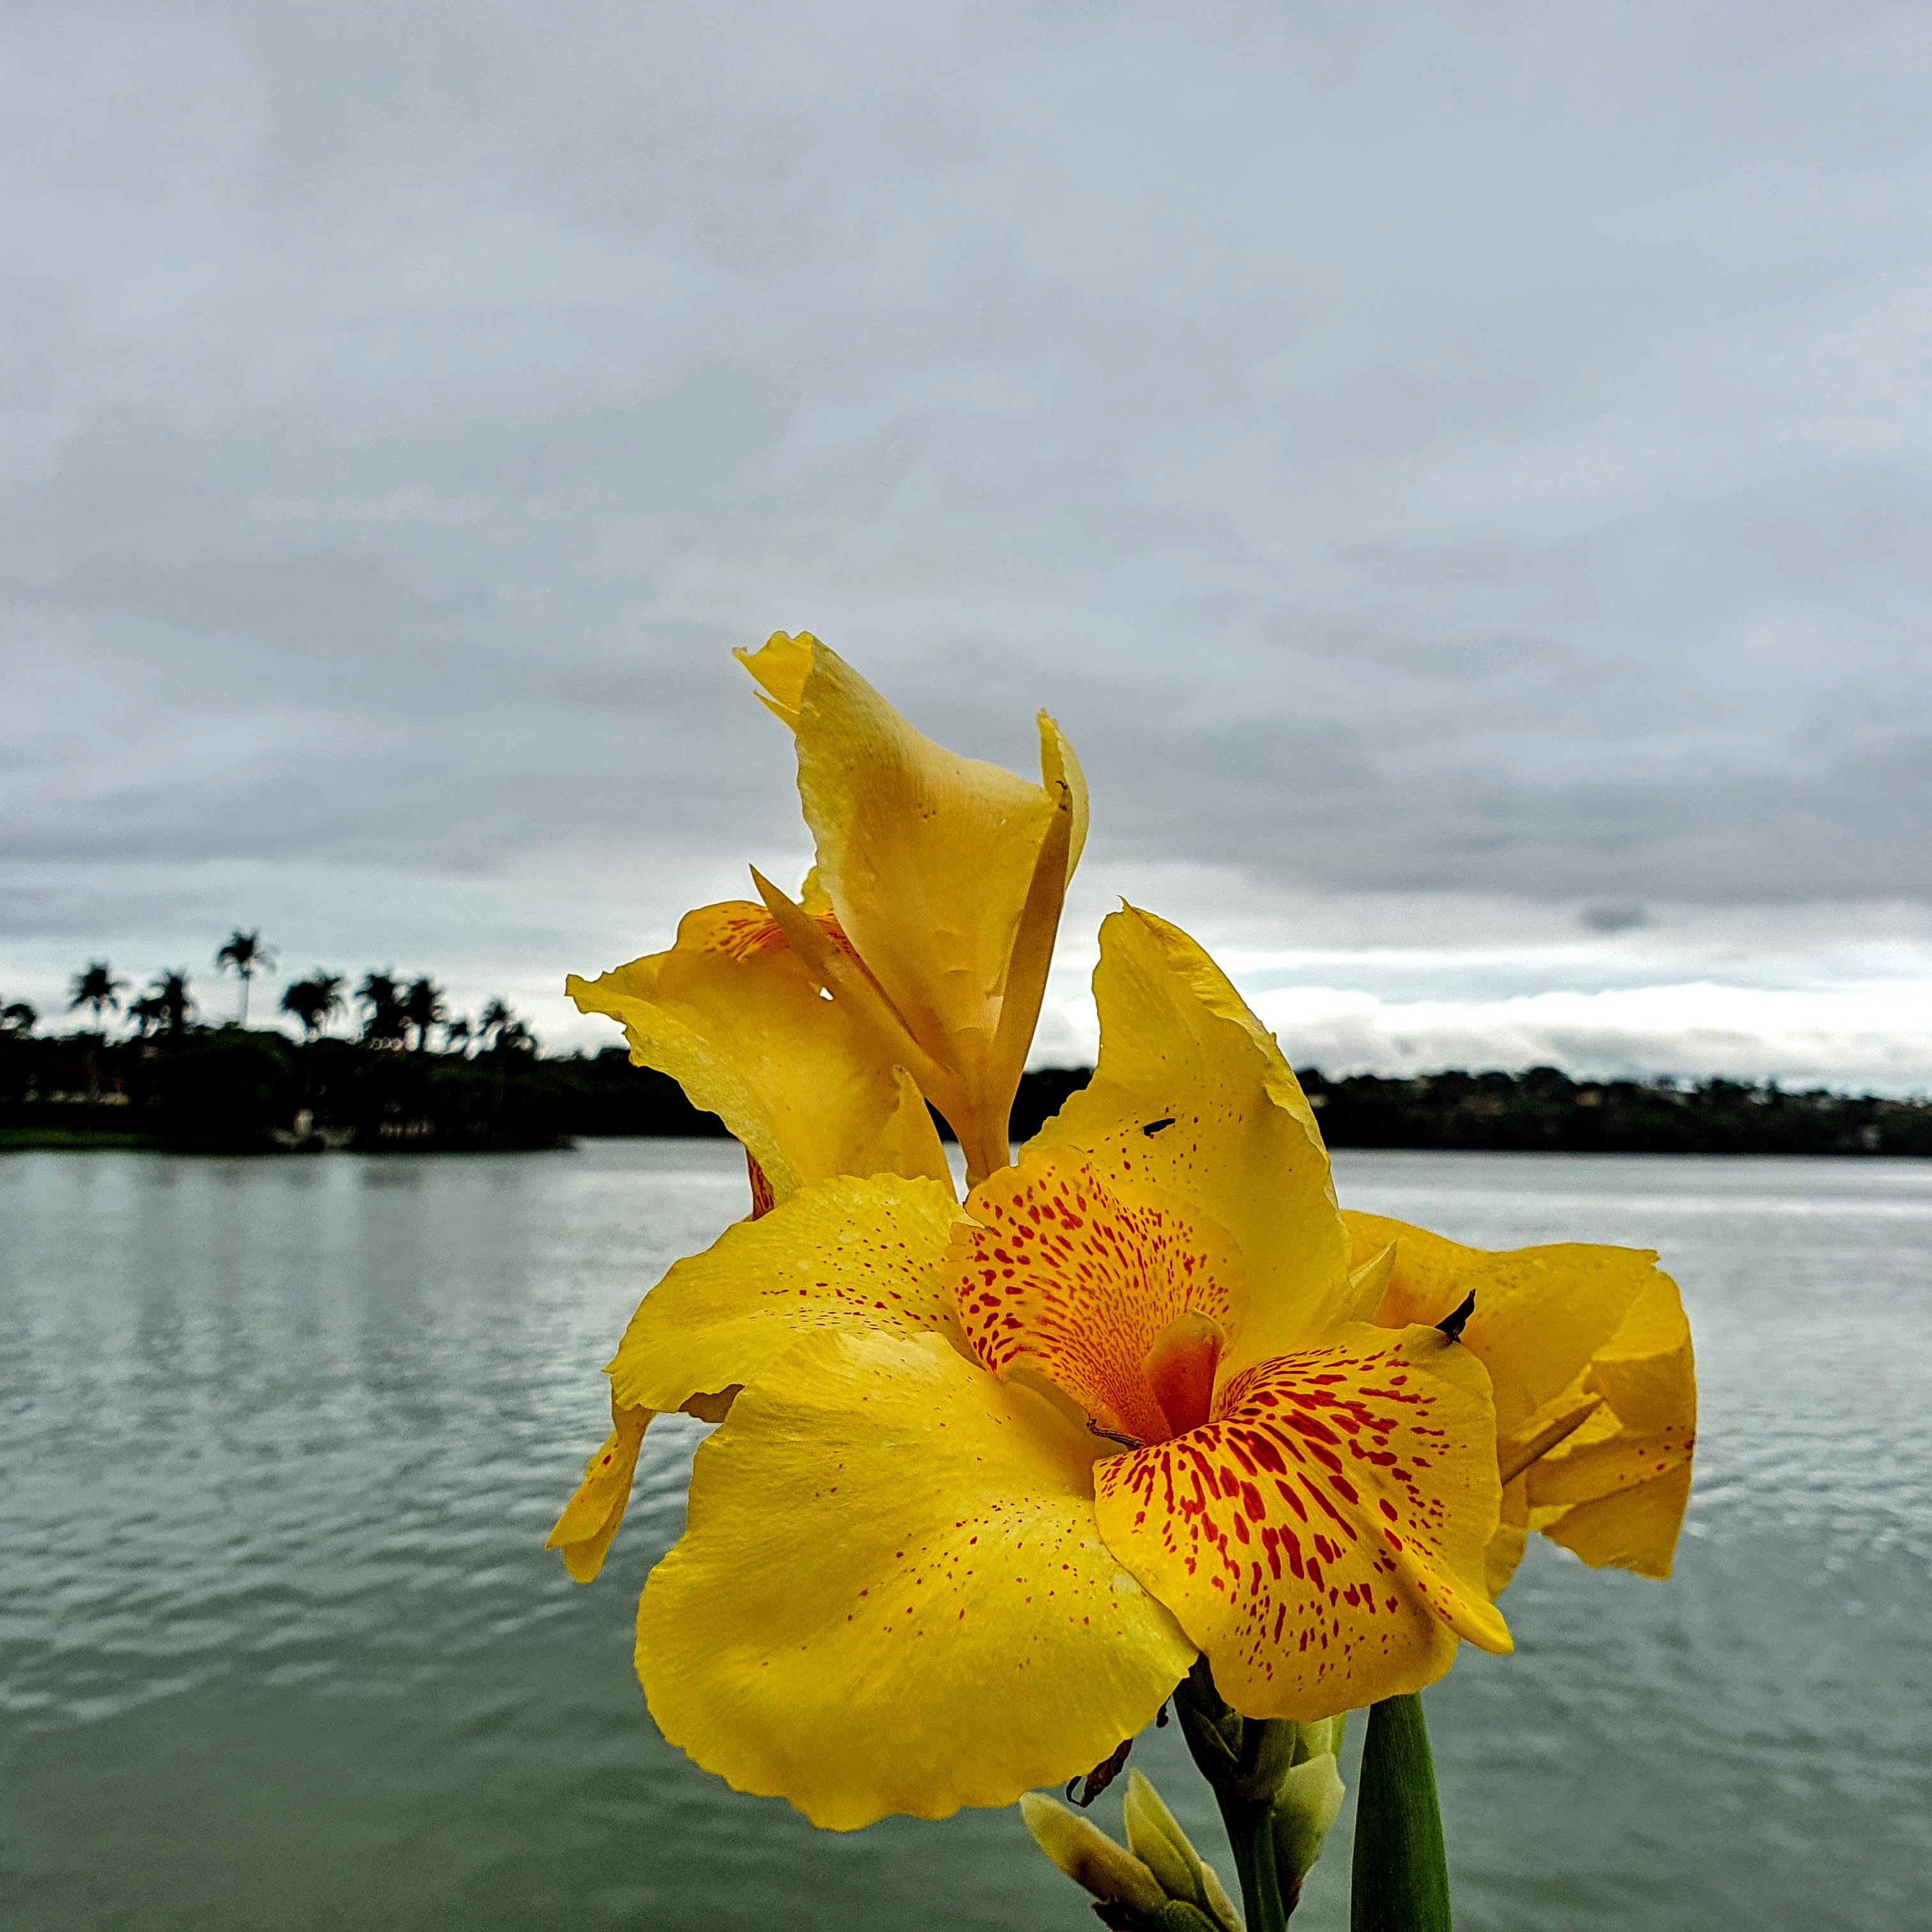
M 247 1024 L 253 981 L 276 964 L 261 931 L 230 933 L 214 964 L 238 981 L 234 1020 L 199 1018 L 185 966 L 162 968 L 124 1003 L 129 983 L 108 960 L 89 960 L 68 987 L 68 1012 L 89 1014 L 91 1032 L 50 1037 L 27 1001 L 0 1005 L 0 1150 L 437 1151 L 724 1132 L 624 1047 L 545 1057 L 506 1001 L 473 1020 L 452 1014 L 427 974 L 371 968 L 352 987 L 319 966 L 276 1007 L 299 1030 L 292 1039 Z M 126 1018 L 118 1039 L 110 1014 Z M 1084 1066 L 1026 1074 L 1014 1136 L 1036 1132 L 1088 1078 Z M 1932 1101 L 1822 1088 L 1573 1080 L 1555 1066 L 1395 1080 L 1304 1068 L 1302 1086 L 1335 1148 L 1932 1153 Z

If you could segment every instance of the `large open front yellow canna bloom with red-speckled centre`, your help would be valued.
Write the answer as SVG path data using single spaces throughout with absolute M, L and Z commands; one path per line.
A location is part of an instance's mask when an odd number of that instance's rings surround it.
M 651 1714 L 823 1826 L 1076 1776 L 1198 1650 L 1244 1716 L 1318 1719 L 1509 1648 L 1482 1364 L 1364 1320 L 1300 1088 L 1184 933 L 1109 918 L 1095 997 L 1094 1086 L 964 1211 L 804 1186 L 611 1364 L 618 1416 L 728 1405 L 639 1605 Z

